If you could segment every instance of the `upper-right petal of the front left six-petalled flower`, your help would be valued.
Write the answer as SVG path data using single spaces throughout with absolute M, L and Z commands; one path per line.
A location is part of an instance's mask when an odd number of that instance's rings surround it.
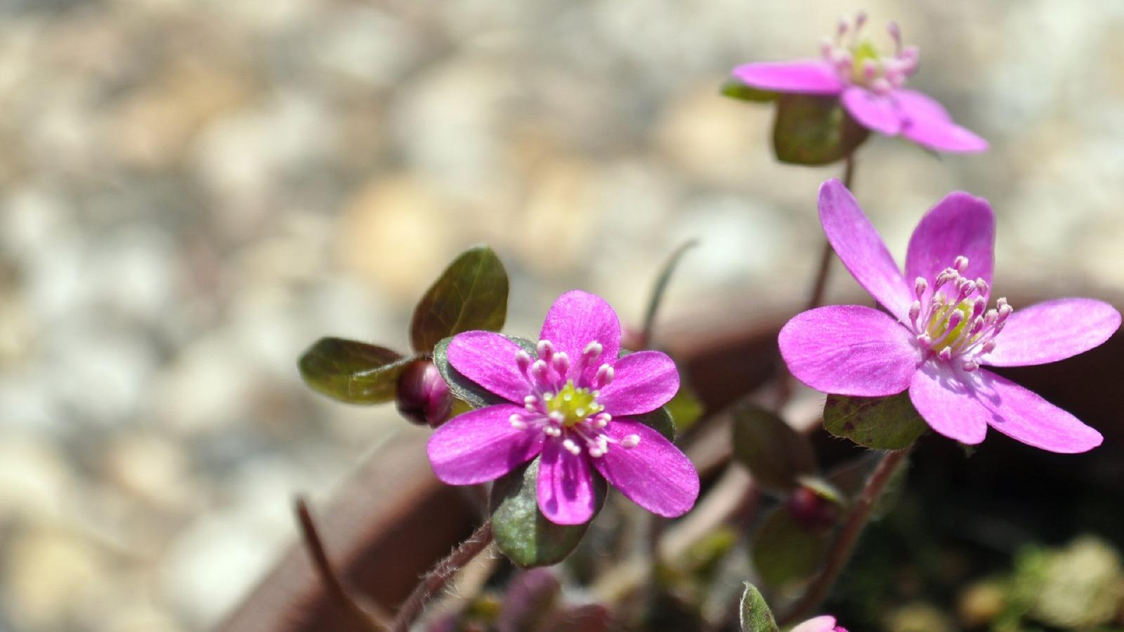
M 679 391 L 676 363 L 660 351 L 629 353 L 613 364 L 613 381 L 597 398 L 613 416 L 655 410 Z

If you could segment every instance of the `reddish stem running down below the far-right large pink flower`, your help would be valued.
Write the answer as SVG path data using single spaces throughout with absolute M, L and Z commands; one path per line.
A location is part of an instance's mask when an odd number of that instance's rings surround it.
M 894 478 L 894 472 L 897 471 L 908 453 L 909 448 L 895 450 L 887 452 L 882 457 L 882 460 L 879 461 L 878 467 L 874 468 L 870 478 L 867 479 L 867 485 L 862 488 L 862 493 L 859 494 L 854 505 L 851 507 L 851 513 L 847 514 L 843 530 L 840 531 L 839 538 L 835 539 L 835 545 L 827 553 L 827 561 L 824 563 L 823 570 L 808 585 L 808 589 L 804 593 L 804 596 L 792 604 L 792 607 L 782 617 L 781 623 L 791 623 L 807 619 L 821 602 L 824 601 L 824 597 L 827 596 L 832 586 L 835 585 L 835 580 L 839 579 L 843 567 L 851 559 L 851 553 L 854 552 L 854 545 L 859 541 L 859 535 L 862 534 L 863 527 L 867 526 L 867 521 L 870 520 L 870 513 L 874 508 L 874 503 L 882 495 L 882 491 L 886 490 L 886 484 Z

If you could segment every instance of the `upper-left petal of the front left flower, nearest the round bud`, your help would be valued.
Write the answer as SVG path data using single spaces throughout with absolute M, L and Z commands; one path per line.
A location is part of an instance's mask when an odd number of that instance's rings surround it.
M 448 362 L 464 377 L 510 401 L 532 391 L 515 354 L 522 347 L 492 332 L 464 332 L 448 343 Z

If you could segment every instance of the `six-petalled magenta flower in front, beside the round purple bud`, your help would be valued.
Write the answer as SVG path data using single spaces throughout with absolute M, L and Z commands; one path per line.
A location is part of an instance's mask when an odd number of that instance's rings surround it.
M 593 515 L 593 470 L 645 509 L 668 517 L 698 497 L 691 462 L 659 432 L 629 418 L 679 390 L 676 364 L 659 351 L 617 358 L 620 322 L 600 297 L 571 291 L 543 323 L 537 359 L 491 332 L 465 332 L 448 361 L 507 399 L 459 415 L 429 439 L 429 461 L 451 485 L 493 480 L 542 453 L 538 508 L 558 524 Z

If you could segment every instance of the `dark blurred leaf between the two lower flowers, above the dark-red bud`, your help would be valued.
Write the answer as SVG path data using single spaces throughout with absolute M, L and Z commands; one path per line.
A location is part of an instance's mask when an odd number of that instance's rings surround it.
M 816 471 L 816 455 L 807 437 L 774 413 L 758 406 L 734 410 L 734 458 L 761 485 L 790 491 L 801 475 Z

